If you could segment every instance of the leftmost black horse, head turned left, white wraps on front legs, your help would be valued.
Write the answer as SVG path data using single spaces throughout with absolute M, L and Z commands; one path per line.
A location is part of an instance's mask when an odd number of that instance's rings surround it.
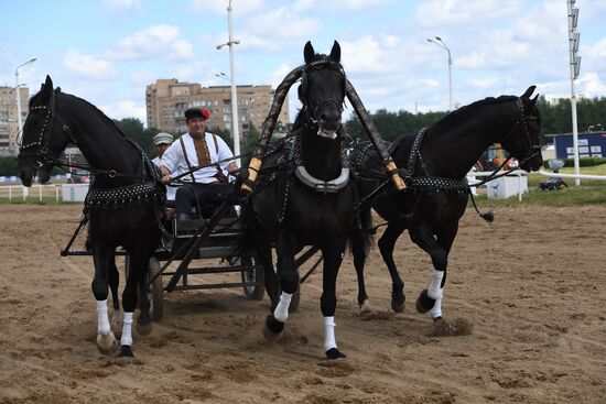
M 122 293 L 123 326 L 120 356 L 131 357 L 132 318 L 140 297 L 138 331 L 151 331 L 150 302 L 145 292 L 150 256 L 160 242 L 163 188 L 141 149 L 91 103 L 53 89 L 51 77 L 30 100 L 19 153 L 21 182 L 30 186 L 35 174 L 45 183 L 67 144 L 76 144 L 95 174 L 86 197 L 83 223 L 89 220 L 87 247 L 95 262 L 93 293 L 97 299 L 97 347 L 111 353 L 118 342 L 108 317 L 108 286 L 115 317 L 119 312 L 119 273 L 115 251 L 129 253 Z M 116 319 L 116 318 L 115 318 Z

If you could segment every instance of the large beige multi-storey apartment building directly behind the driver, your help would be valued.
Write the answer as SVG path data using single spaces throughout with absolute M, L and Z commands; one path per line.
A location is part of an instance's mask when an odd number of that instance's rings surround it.
M 237 86 L 238 120 L 240 131 L 253 124 L 261 130 L 267 118 L 274 90 L 271 86 Z M 187 108 L 201 107 L 210 111 L 208 128 L 218 127 L 232 132 L 231 87 L 202 87 L 197 83 L 180 83 L 175 78 L 159 79 L 147 86 L 145 108 L 148 127 L 173 133 L 187 131 L 184 112 Z M 289 123 L 289 99 L 284 100 L 279 121 Z

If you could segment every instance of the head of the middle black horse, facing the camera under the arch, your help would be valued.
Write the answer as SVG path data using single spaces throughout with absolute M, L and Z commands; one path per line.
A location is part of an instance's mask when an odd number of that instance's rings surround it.
M 317 133 L 335 138 L 340 127 L 343 103 L 345 100 L 346 76 L 340 65 L 340 45 L 335 41 L 329 55 L 316 54 L 311 42 L 303 51 L 305 67 L 301 76 L 299 99 L 303 103 Z

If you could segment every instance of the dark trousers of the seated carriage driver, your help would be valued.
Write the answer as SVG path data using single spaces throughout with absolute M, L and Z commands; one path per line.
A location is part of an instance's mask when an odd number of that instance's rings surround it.
M 198 215 L 208 218 L 231 190 L 229 183 L 187 184 L 176 189 L 176 214 L 192 214 L 196 208 Z

